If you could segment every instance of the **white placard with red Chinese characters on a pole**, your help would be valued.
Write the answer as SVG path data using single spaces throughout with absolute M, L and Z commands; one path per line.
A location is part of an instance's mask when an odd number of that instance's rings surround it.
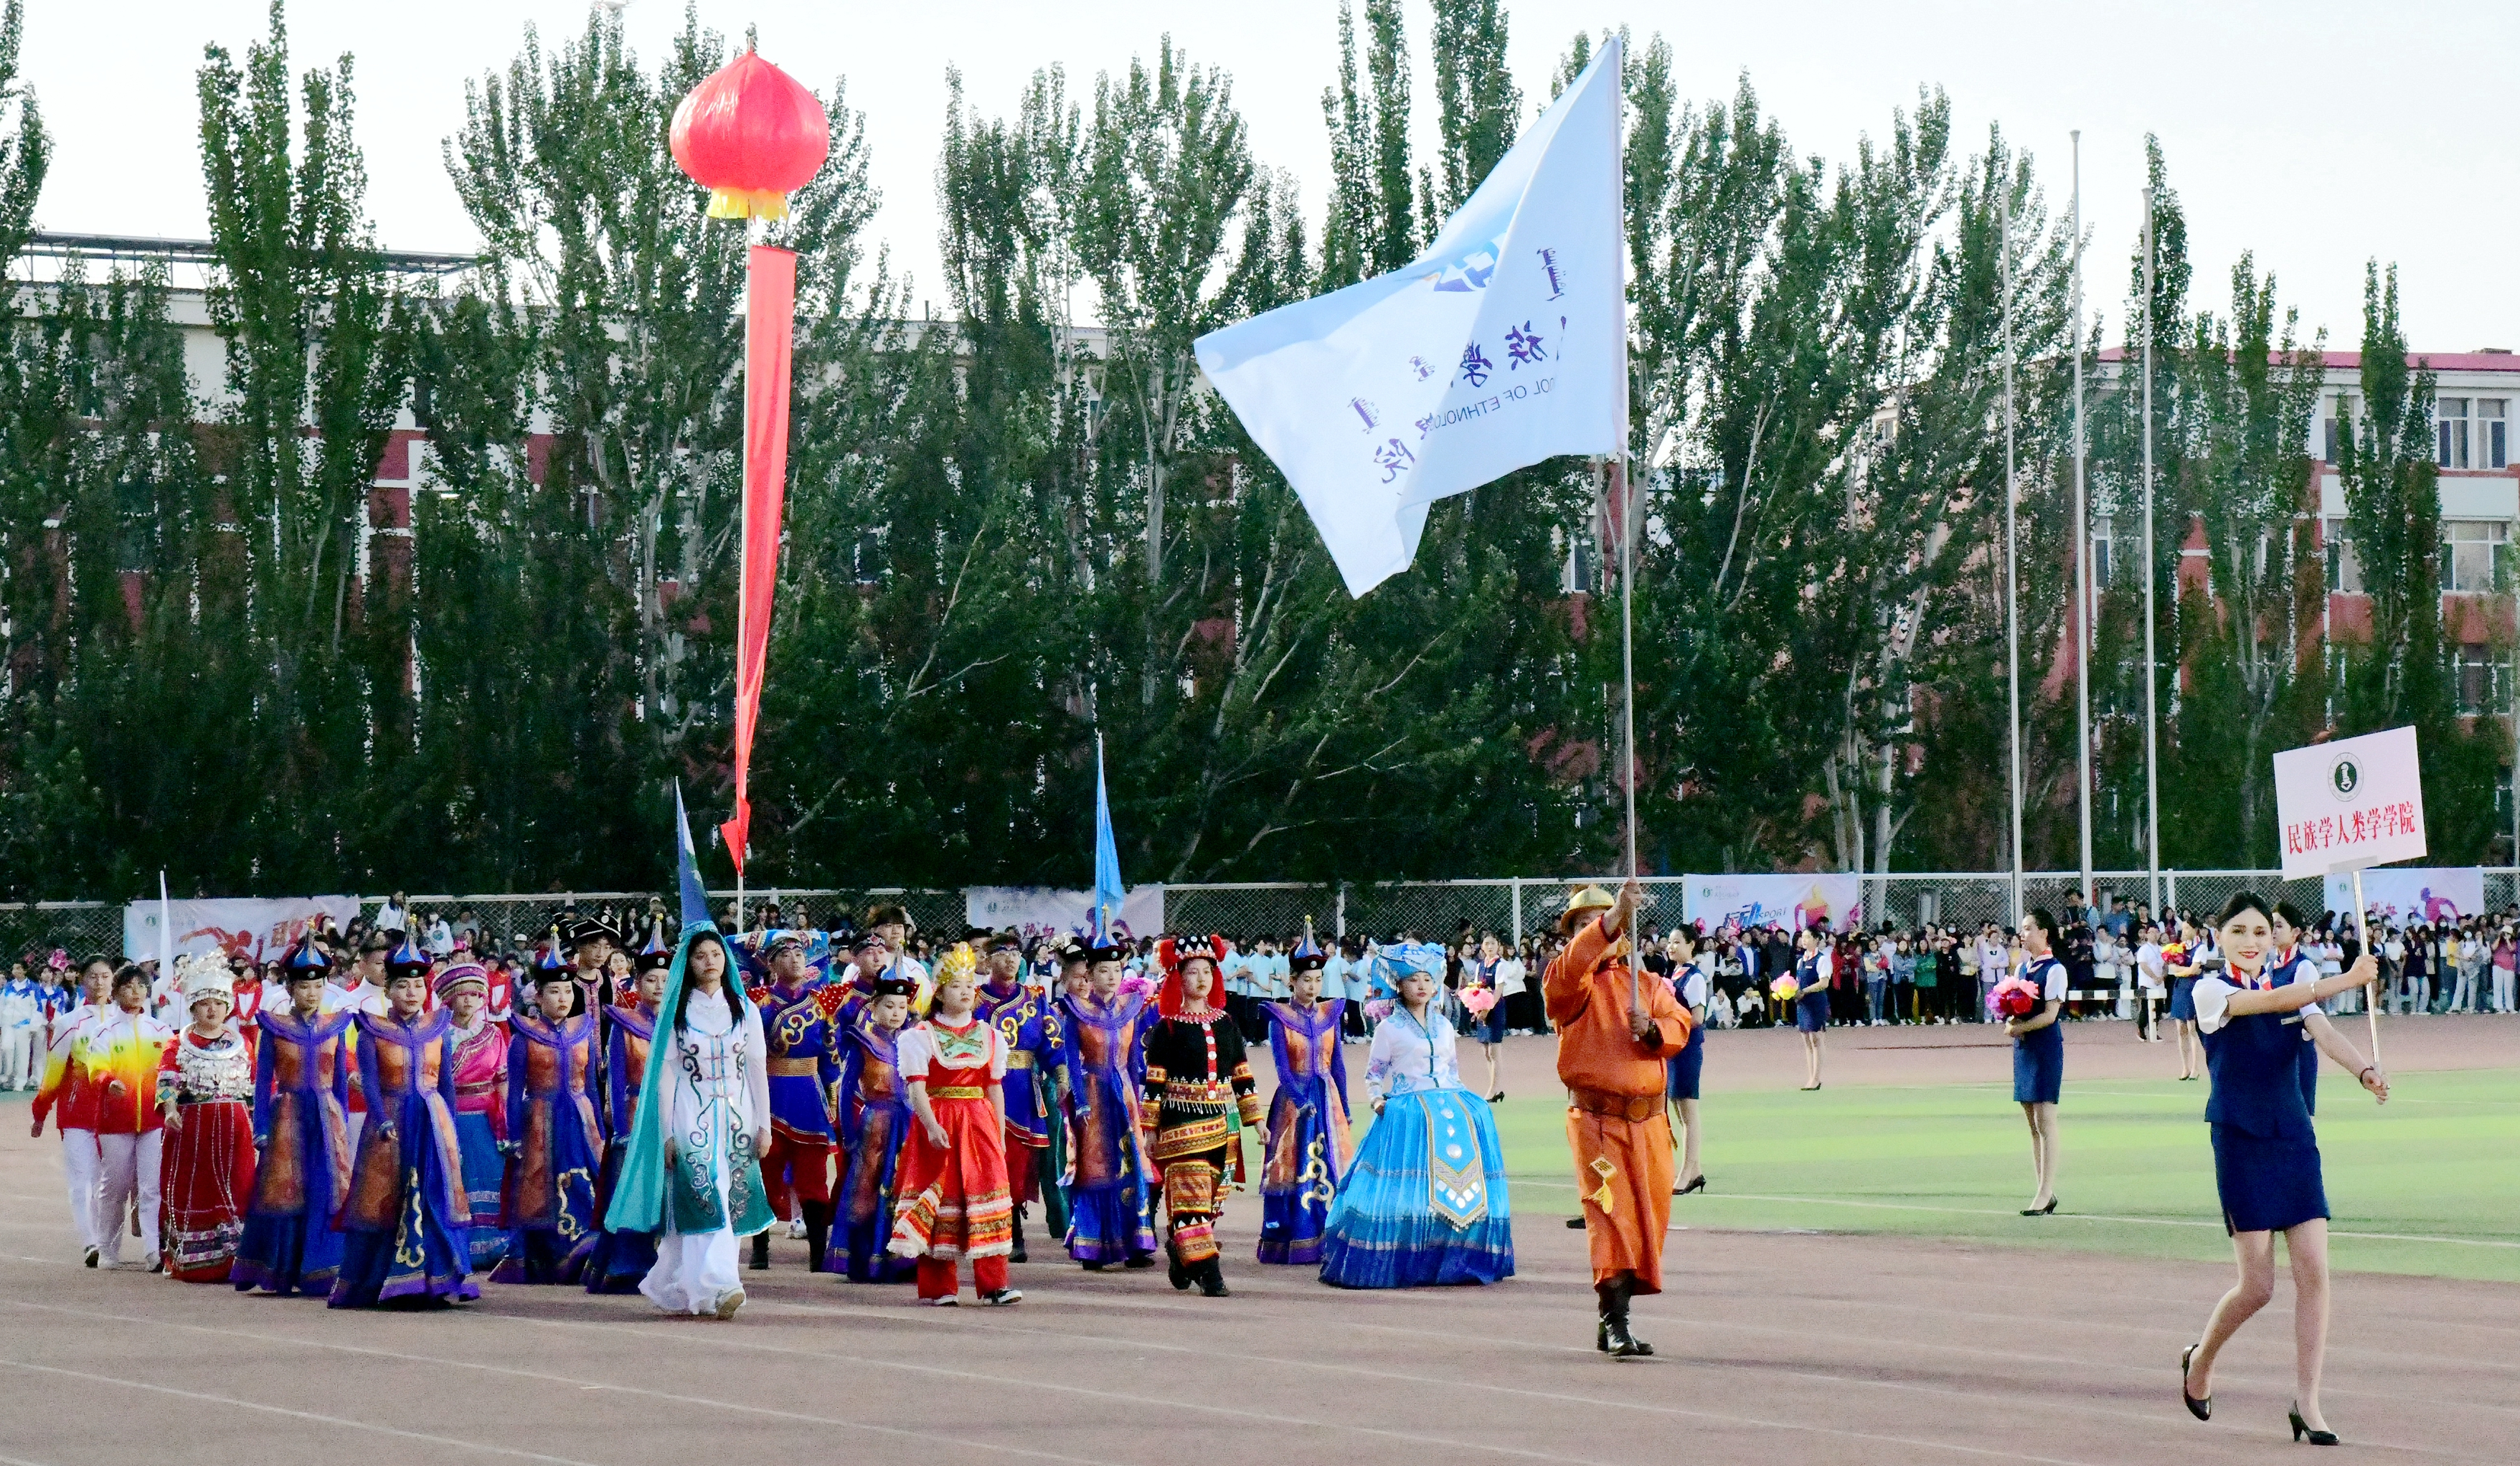
M 2278 753 L 2276 824 L 2288 882 L 2422 859 L 2424 776 L 2414 728 Z

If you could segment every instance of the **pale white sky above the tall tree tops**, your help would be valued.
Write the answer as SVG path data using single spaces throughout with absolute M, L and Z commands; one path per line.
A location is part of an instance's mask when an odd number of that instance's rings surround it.
M 1507 5 L 1515 76 L 1537 108 L 1578 13 Z M 28 0 L 23 71 L 55 136 L 40 224 L 199 237 L 194 68 L 207 40 L 242 53 L 262 35 L 262 0 Z M 663 55 L 680 15 L 673 0 L 633 0 L 627 30 L 640 55 Z M 1336 15 L 1338 0 L 701 0 L 703 25 L 728 35 L 759 23 L 764 55 L 806 86 L 847 76 L 885 194 L 877 239 L 925 297 L 942 295 L 932 179 L 948 63 L 963 68 L 980 111 L 1005 113 L 1033 68 L 1063 63 L 1071 93 L 1091 96 L 1096 71 L 1152 53 L 1169 30 L 1192 60 L 1232 71 L 1257 161 L 1293 169 L 1318 219 Z M 529 20 L 552 43 L 585 25 L 585 8 L 292 8 L 300 71 L 340 50 L 358 55 L 358 141 L 386 244 L 474 244 L 438 144 L 461 121 L 464 81 L 504 68 Z M 2082 128 L 2089 300 L 2107 310 L 2112 343 L 2139 219 L 2142 136 L 2157 131 L 2187 204 L 2197 305 L 2220 307 L 2233 259 L 2255 249 L 2303 325 L 2326 325 L 2331 345 L 2351 348 L 2364 259 L 2379 257 L 2399 262 L 2407 338 L 2419 350 L 2520 348 L 2510 121 L 2520 5 L 2510 0 L 2434 0 L 2404 13 L 2369 0 L 1623 0 L 1583 20 L 1625 23 L 1641 43 L 1666 35 L 1688 98 L 1729 96 L 1746 68 L 1802 154 L 1845 159 L 1860 134 L 1882 136 L 1890 108 L 1913 106 L 1920 83 L 1943 86 L 1963 149 L 2001 121 L 2036 154 L 2061 209 L 2066 134 Z M 1429 5 L 1411 0 L 1421 154 L 1434 141 L 1429 30 Z

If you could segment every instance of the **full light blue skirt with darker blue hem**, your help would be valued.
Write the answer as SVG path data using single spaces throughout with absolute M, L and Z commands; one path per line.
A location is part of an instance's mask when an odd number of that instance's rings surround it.
M 1515 1275 L 1504 1149 L 1467 1088 L 1396 1093 L 1331 1199 L 1320 1280 L 1429 1287 Z

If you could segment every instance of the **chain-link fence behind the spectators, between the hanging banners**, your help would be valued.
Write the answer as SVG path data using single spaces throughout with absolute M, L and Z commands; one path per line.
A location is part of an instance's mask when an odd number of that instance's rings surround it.
M 1235 884 L 1179 884 L 1164 887 L 1162 924 L 1174 932 L 1225 932 L 1252 942 L 1260 937 L 1293 940 L 1305 924 L 1315 940 L 1338 937 L 1394 940 L 1416 935 L 1429 942 L 1446 942 L 1464 929 L 1472 935 L 1494 932 L 1522 942 L 1547 932 L 1565 894 L 1575 884 L 1615 884 L 1618 877 L 1502 877 L 1477 882 L 1235 882 Z M 1648 927 L 1671 927 L 1681 919 L 1681 887 L 1686 877 L 1646 877 L 1651 904 Z M 1867 874 L 1862 884 L 1862 912 L 1867 924 L 1920 927 L 1925 922 L 1973 929 L 1983 922 L 2013 924 L 2013 882 L 2006 872 L 1898 872 Z M 2061 909 L 2082 889 L 2079 872 L 2029 872 L 2021 877 L 2021 904 Z M 2094 872 L 2094 889 L 2114 897 L 2117 904 L 2167 907 L 2210 914 L 2233 892 L 2253 889 L 2265 897 L 2291 897 L 2303 912 L 2326 909 L 2326 887 L 2318 879 L 2286 882 L 2278 872 L 2160 872 L 2160 897 L 2147 872 Z M 731 914 L 736 892 L 708 892 L 721 922 Z M 864 919 L 869 907 L 900 904 L 930 937 L 955 937 L 965 922 L 965 894 L 958 889 L 900 889 L 900 887 L 809 887 L 809 889 L 748 889 L 746 919 L 761 922 L 776 904 L 779 924 L 789 927 L 842 927 Z M 663 902 L 668 919 L 680 909 L 675 894 L 650 892 L 527 892 L 527 894 L 469 894 L 406 897 L 403 907 L 416 922 L 446 917 L 451 932 L 474 932 L 476 945 L 504 952 L 532 947 L 552 924 L 570 917 L 605 917 L 615 927 L 638 937 L 645 929 L 648 909 Z M 2485 907 L 2492 912 L 2520 902 L 2520 869 L 2485 869 Z M 360 909 L 373 919 L 386 897 L 363 897 Z M 1142 932 L 1144 935 L 1144 932 Z M 113 902 L 20 902 L 0 904 L 0 952 L 10 960 L 63 950 L 76 962 L 91 952 L 123 955 L 123 907 Z

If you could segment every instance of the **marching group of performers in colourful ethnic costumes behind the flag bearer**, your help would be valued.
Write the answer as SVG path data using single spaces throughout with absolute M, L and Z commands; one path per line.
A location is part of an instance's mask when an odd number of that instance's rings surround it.
M 980 929 L 930 972 L 907 932 L 877 907 L 842 942 L 668 940 L 658 907 L 627 972 L 630 940 L 587 919 L 522 982 L 398 929 L 355 960 L 305 937 L 244 990 L 217 952 L 181 960 L 184 1028 L 144 967 L 96 957 L 48 1030 L 35 1134 L 60 1131 L 88 1267 L 121 1267 L 129 1232 L 149 1272 L 333 1307 L 476 1300 L 486 1277 L 733 1317 L 779 1227 L 814 1272 L 953 1305 L 968 1259 L 978 1300 L 1011 1305 L 1036 1217 L 1089 1272 L 1162 1254 L 1177 1290 L 1225 1297 L 1247 1151 L 1265 1264 L 1512 1275 L 1494 1118 L 1431 977 L 1373 1033 L 1358 1146 L 1346 1000 L 1320 997 L 1310 940 L 1268 1005 L 1263 1108 L 1217 940 L 1162 942 L 1149 985 L 1124 945 L 1068 937 L 1048 975 Z

